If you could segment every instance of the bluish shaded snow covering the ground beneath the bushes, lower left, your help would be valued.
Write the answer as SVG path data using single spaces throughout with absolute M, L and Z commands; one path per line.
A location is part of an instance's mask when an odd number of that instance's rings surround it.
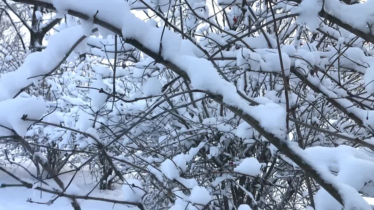
M 21 179 L 27 182 L 34 182 L 30 175 L 25 172 L 24 169 L 21 167 L 10 168 L 8 166 L 8 171 L 13 172 L 16 176 L 20 177 Z M 29 165 L 27 165 L 29 166 Z M 31 166 L 30 166 L 31 167 Z M 32 168 L 32 167 L 31 167 Z M 65 171 L 69 170 L 66 168 Z M 71 170 L 71 169 L 70 169 Z M 65 175 L 61 175 L 61 179 L 64 183 L 68 183 L 73 173 L 67 173 Z M 45 180 L 48 184 L 52 186 L 56 186 L 53 180 Z M 6 175 L 4 172 L 0 171 L 0 183 L 7 183 L 7 184 L 19 184 L 19 182 L 9 175 Z M 72 182 L 72 186 L 70 186 L 67 190 L 68 194 L 76 194 L 76 195 L 86 195 L 87 192 L 91 191 L 91 189 L 95 186 L 96 181 L 92 180 L 91 175 L 85 172 L 77 173 L 76 177 Z M 40 186 L 40 185 L 39 185 Z M 42 185 L 42 187 L 46 187 Z M 102 197 L 114 200 L 123 201 L 123 191 L 120 185 L 115 185 L 114 190 L 105 190 L 100 191 L 98 186 L 96 189 L 90 194 L 92 197 Z M 50 188 L 48 188 L 50 189 Z M 70 190 L 69 190 L 70 189 Z M 41 198 L 40 198 L 41 196 Z M 52 194 L 47 192 L 37 191 L 35 189 L 27 189 L 24 187 L 9 187 L 9 188 L 0 188 L 0 210 L 69 210 L 73 209 L 71 207 L 70 201 L 68 198 L 60 197 L 58 198 L 52 205 L 47 206 L 45 204 L 36 204 L 36 203 L 29 203 L 27 202 L 28 198 L 31 198 L 32 201 L 36 202 L 47 202 L 54 197 Z M 113 207 L 113 203 L 107 203 L 104 201 L 95 201 L 95 200 L 78 200 L 82 210 L 138 210 L 137 207 L 128 207 L 122 204 L 115 204 Z

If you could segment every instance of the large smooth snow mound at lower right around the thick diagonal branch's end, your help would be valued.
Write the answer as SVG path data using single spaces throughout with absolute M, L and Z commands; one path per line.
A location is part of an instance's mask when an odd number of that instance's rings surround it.
M 358 194 L 365 182 L 371 180 L 374 171 L 374 159 L 346 145 L 335 148 L 322 146 L 305 150 L 292 146 L 295 154 L 300 155 L 332 186 L 339 189 L 346 209 L 371 209 L 369 204 Z M 330 170 L 337 171 L 334 176 Z M 315 195 L 316 209 L 341 209 L 341 205 L 325 189 L 321 188 Z

